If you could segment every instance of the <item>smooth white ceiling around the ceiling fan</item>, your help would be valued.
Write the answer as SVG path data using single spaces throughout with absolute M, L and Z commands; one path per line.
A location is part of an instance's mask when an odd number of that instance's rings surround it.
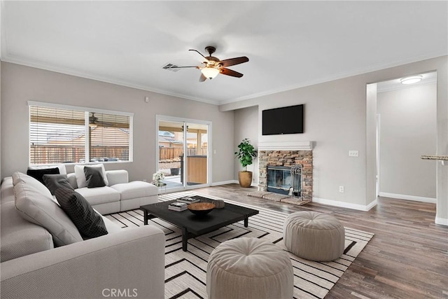
M 448 54 L 448 1 L 2 1 L 1 59 L 225 104 Z M 205 46 L 247 56 L 204 83 Z M 205 53 L 204 53 L 205 54 Z

